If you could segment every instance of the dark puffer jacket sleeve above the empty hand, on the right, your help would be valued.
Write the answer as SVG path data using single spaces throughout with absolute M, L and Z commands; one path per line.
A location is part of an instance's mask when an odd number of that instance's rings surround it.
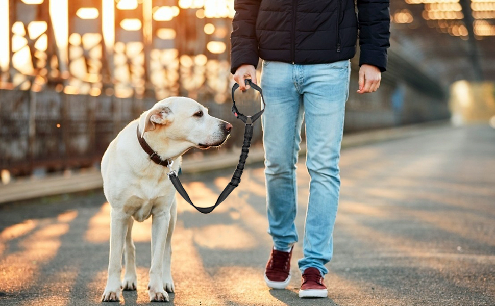
M 357 0 L 357 8 L 359 66 L 369 64 L 384 72 L 390 46 L 390 0 Z

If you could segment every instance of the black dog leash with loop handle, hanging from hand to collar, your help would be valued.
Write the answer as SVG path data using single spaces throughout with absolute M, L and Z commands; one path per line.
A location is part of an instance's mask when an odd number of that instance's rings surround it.
M 242 171 L 244 170 L 244 165 L 246 164 L 246 159 L 248 159 L 248 152 L 249 152 L 249 146 L 251 145 L 251 138 L 253 137 L 253 123 L 258 119 L 261 114 L 263 114 L 265 110 L 265 99 L 263 98 L 263 92 L 261 91 L 261 88 L 257 86 L 256 84 L 251 82 L 251 79 L 246 79 L 246 85 L 250 85 L 253 89 L 259 91 L 261 95 L 261 101 L 263 102 L 263 109 L 259 111 L 258 113 L 254 114 L 253 116 L 245 116 L 242 113 L 239 113 L 237 110 L 237 107 L 235 105 L 235 100 L 234 100 L 234 92 L 235 90 L 239 87 L 239 84 L 234 84 L 232 87 L 232 113 L 236 118 L 241 119 L 242 122 L 246 124 L 245 129 L 244 129 L 244 142 L 242 144 L 242 151 L 241 151 L 241 156 L 239 158 L 239 163 L 237 164 L 237 167 L 234 171 L 234 174 L 232 175 L 232 180 L 230 181 L 229 184 L 225 187 L 224 191 L 221 192 L 220 196 L 216 200 L 215 205 L 210 206 L 210 207 L 197 207 L 194 205 L 194 203 L 191 201 L 189 198 L 189 195 L 187 194 L 186 190 L 181 184 L 181 181 L 179 180 L 179 177 L 177 176 L 176 171 L 170 171 L 168 172 L 168 178 L 170 181 L 172 181 L 172 184 L 174 187 L 177 189 L 177 192 L 190 204 L 192 205 L 197 211 L 203 214 L 208 214 L 211 213 L 218 205 L 220 205 L 221 202 L 223 202 L 229 194 L 237 187 L 239 186 L 239 183 L 241 181 L 241 175 Z M 249 122 L 248 122 L 249 121 Z M 171 170 L 171 164 L 168 166 L 169 169 Z

